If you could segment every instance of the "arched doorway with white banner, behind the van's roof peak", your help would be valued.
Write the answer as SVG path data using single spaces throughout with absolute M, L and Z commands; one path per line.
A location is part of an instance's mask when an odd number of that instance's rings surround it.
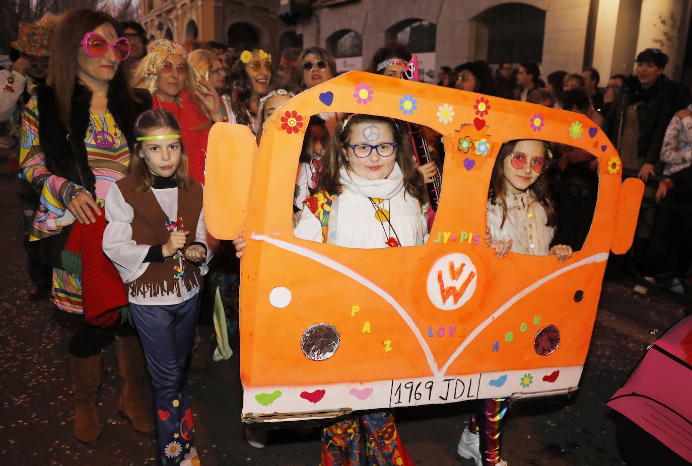
M 423 82 L 437 82 L 435 41 L 437 25 L 419 18 L 408 18 L 390 26 L 385 32 L 389 42 L 399 42 L 418 57 L 418 71 Z

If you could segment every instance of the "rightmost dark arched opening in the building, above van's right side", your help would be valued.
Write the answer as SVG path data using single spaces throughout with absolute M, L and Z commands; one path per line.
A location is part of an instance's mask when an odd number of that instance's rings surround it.
M 475 59 L 489 64 L 543 61 L 545 11 L 523 3 L 493 6 L 473 19 Z

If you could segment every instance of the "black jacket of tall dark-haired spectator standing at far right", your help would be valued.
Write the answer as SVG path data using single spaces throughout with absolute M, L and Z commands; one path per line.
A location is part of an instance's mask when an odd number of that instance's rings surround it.
M 626 109 L 631 104 L 639 102 L 637 157 L 642 159 L 642 163 L 655 165 L 668 123 L 675 112 L 684 109 L 690 101 L 689 89 L 668 80 L 666 75 L 660 75 L 648 89 L 642 88 L 637 77 L 630 75 L 623 83 L 620 93 L 615 96 L 608 115 L 603 120 L 603 131 L 619 150 Z

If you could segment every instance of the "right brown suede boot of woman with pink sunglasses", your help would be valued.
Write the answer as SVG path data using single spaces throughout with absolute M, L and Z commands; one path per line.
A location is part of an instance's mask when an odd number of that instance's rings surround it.
M 145 360 L 138 337 L 116 337 L 116 358 L 120 373 L 120 401 L 118 411 L 132 422 L 142 434 L 156 432 L 154 416 L 142 402 L 142 380 Z

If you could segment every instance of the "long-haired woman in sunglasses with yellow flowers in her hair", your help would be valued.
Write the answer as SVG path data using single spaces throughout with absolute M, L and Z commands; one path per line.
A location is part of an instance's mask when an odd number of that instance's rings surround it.
M 248 48 L 240 53 L 230 67 L 228 121 L 244 124 L 255 137 L 262 128 L 260 98 L 266 95 L 271 81 L 271 55 L 261 48 Z

